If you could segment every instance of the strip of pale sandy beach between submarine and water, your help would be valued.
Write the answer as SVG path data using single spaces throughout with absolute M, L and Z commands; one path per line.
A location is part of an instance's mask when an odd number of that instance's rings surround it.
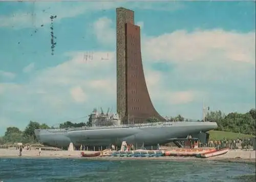
M 93 153 L 94 151 L 84 151 L 86 153 Z M 15 149 L 0 149 L 0 158 L 12 158 L 19 157 L 19 152 Z M 38 150 L 24 150 L 22 156 L 24 158 L 83 158 L 81 157 L 80 151 L 55 151 L 55 150 L 44 150 L 39 155 Z M 221 161 L 221 162 L 241 162 L 241 163 L 255 163 L 255 151 L 244 151 L 241 149 L 230 150 L 224 155 L 219 155 L 210 158 L 196 158 L 196 157 L 181 157 L 181 156 L 162 156 L 162 157 L 90 157 L 92 160 L 169 160 L 169 161 Z

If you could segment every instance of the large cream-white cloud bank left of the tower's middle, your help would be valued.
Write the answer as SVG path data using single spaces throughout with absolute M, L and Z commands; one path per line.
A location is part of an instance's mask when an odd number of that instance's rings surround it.
M 93 103 L 88 107 L 97 106 L 101 102 L 99 96 L 107 97 L 107 101 L 115 97 L 115 54 L 113 52 L 94 52 L 92 59 L 84 60 L 84 52 L 71 52 L 69 61 L 40 70 L 23 85 L 0 84 L 0 92 L 5 94 L 5 101 L 12 103 L 6 110 L 13 107 L 26 106 L 33 110 L 47 107 L 44 112 L 57 112 L 69 109 L 71 102 Z M 108 59 L 106 59 L 108 57 Z M 103 59 L 102 59 L 103 58 Z M 36 101 L 36 102 L 35 102 Z M 75 104 L 75 103 L 74 103 Z M 39 109 L 40 110 L 40 109 Z

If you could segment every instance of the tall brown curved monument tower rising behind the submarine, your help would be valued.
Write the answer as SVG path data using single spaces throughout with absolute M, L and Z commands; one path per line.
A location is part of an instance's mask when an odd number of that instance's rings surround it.
M 154 108 L 148 94 L 140 49 L 140 27 L 134 25 L 134 11 L 116 9 L 117 112 L 123 124 L 164 119 Z

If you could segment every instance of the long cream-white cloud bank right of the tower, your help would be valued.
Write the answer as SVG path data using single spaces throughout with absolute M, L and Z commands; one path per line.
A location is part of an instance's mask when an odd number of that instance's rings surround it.
M 223 30 L 175 31 L 148 38 L 143 51 L 151 60 L 255 64 L 255 32 L 236 33 Z M 232 63 L 232 62 L 231 62 Z

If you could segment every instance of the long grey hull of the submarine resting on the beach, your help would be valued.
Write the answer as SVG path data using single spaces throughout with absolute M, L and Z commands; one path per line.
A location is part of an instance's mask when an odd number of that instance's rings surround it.
M 112 144 L 120 146 L 122 141 L 137 144 L 140 147 L 166 144 L 172 138 L 185 138 L 187 135 L 198 135 L 217 128 L 214 122 L 166 122 L 155 126 L 142 127 L 109 127 L 80 130 L 37 129 L 37 139 L 48 146 L 67 147 L 70 142 L 79 147 L 106 147 Z M 97 148 L 96 148 L 97 149 Z

